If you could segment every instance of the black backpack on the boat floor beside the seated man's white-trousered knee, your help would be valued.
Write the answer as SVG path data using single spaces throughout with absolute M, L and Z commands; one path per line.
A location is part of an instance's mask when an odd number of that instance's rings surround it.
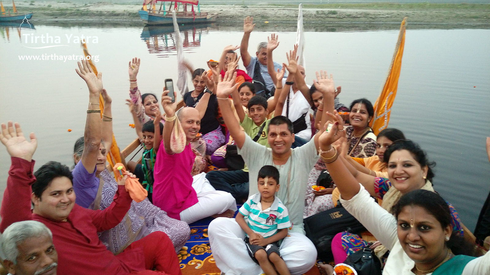
M 334 260 L 332 254 L 332 239 L 337 233 L 348 231 L 360 234 L 366 228 L 352 216 L 340 201 L 337 206 L 303 220 L 306 236 L 313 242 L 318 252 L 319 259 L 324 262 Z

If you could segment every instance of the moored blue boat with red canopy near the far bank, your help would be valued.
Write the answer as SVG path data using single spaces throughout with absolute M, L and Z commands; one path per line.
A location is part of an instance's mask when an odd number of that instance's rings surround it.
M 161 2 L 160 9 L 156 10 L 156 3 Z M 165 2 L 170 2 L 169 10 L 165 9 Z M 150 8 L 147 8 L 147 4 Z M 175 3 L 175 4 L 173 4 Z M 191 11 L 187 10 L 187 4 L 191 4 Z M 197 5 L 197 12 L 194 6 Z M 179 7 L 183 11 L 178 11 Z M 143 23 L 147 25 L 172 25 L 172 9 L 177 10 L 177 23 L 179 24 L 198 24 L 216 22 L 219 13 L 209 14 L 201 12 L 198 0 L 150 0 L 143 3 L 143 9 L 138 11 Z

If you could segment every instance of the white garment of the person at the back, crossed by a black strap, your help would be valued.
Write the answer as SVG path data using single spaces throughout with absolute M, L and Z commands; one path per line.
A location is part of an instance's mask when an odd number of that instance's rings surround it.
M 282 85 L 286 84 L 286 79 L 282 80 Z M 310 85 L 306 85 L 308 88 L 311 88 Z M 284 108 L 282 108 L 282 114 L 286 116 L 286 109 L 288 108 L 288 101 L 286 99 L 286 102 L 284 103 Z M 306 129 L 303 131 L 298 132 L 297 134 L 294 134 L 296 137 L 304 138 L 305 140 L 310 140 L 311 139 L 311 119 L 310 119 L 310 103 L 308 103 L 308 100 L 304 97 L 303 93 L 301 91 L 298 91 L 294 93 L 293 91 L 293 86 L 290 86 L 289 88 L 289 120 L 291 122 L 295 121 L 301 115 L 306 114 L 305 116 L 305 121 L 306 121 Z

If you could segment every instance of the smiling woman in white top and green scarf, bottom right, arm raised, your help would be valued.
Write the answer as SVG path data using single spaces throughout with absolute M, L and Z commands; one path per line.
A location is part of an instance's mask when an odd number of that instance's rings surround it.
M 415 190 L 393 206 L 394 216 L 376 204 L 352 176 L 342 156 L 330 145 L 343 133 L 342 118 L 331 115 L 332 129 L 319 138 L 320 157 L 341 192 L 341 203 L 390 251 L 383 275 L 490 275 L 490 254 L 461 255 L 464 241 L 452 234 L 447 203 L 437 194 Z M 390 158 L 389 169 L 403 169 L 408 160 Z M 411 175 L 407 173 L 405 180 Z M 403 180 L 403 179 L 399 179 Z M 459 254 L 459 255 L 455 255 Z

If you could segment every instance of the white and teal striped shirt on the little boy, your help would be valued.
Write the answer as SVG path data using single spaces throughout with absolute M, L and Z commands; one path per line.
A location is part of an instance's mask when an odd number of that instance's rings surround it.
M 276 196 L 272 205 L 262 210 L 260 193 L 253 194 L 238 211 L 248 217 L 248 227 L 264 238 L 274 235 L 278 229 L 291 227 L 288 209 Z

